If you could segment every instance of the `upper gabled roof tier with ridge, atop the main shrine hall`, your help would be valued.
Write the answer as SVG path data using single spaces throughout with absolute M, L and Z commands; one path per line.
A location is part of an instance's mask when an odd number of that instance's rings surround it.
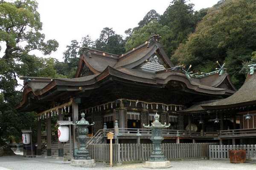
M 162 45 L 158 42 L 159 39 L 159 35 L 154 35 L 142 45 L 122 55 L 86 48 L 80 56 L 76 77 L 80 77 L 81 70 L 84 66 L 87 66 L 94 74 L 101 73 L 108 66 L 113 68 L 135 68 L 155 53 L 161 57 L 166 68 L 171 68 L 174 65 L 164 52 Z

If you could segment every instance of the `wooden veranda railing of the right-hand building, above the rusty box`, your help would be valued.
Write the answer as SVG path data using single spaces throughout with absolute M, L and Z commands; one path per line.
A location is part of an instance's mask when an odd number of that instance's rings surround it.
M 256 128 L 251 129 L 234 129 L 234 130 L 220 130 L 219 137 L 239 137 L 239 136 L 255 136 Z

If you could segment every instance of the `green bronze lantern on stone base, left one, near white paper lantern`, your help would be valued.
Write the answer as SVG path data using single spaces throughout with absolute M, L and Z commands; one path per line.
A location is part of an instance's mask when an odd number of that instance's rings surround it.
M 86 149 L 86 142 L 89 139 L 88 126 L 94 125 L 94 122 L 89 124 L 89 122 L 84 119 L 84 113 L 81 113 L 81 117 L 81 120 L 76 122 L 80 148 L 75 155 L 75 159 L 71 160 L 71 165 L 79 167 L 94 167 L 95 160 L 92 159 L 92 156 L 89 154 L 89 150 Z

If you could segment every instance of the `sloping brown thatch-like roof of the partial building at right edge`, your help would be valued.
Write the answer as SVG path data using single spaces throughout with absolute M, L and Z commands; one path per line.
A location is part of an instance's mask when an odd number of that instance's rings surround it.
M 256 105 L 256 74 L 247 75 L 242 87 L 232 96 L 218 102 L 202 105 L 205 109 L 233 108 L 246 105 Z

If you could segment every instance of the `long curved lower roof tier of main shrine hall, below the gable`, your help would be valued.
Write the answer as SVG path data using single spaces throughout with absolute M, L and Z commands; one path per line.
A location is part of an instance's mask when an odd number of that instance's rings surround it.
M 191 79 L 187 79 L 185 74 L 179 71 L 161 71 L 161 72 L 146 72 L 137 69 L 131 68 L 113 68 L 108 66 L 104 71 L 100 74 L 94 74 L 87 77 L 78 77 L 73 79 L 67 78 L 47 78 L 45 81 L 48 82 L 47 85 L 42 85 L 43 88 L 37 89 L 33 91 L 30 86 L 38 83 L 41 79 L 40 77 L 23 77 L 23 79 L 30 79 L 29 82 L 25 81 L 26 89 L 23 91 L 23 101 L 20 103 L 18 108 L 22 108 L 22 106 L 27 102 L 27 98 L 29 94 L 33 96 L 37 96 L 38 99 L 51 100 L 55 97 L 54 91 L 83 91 L 92 90 L 101 87 L 103 84 L 100 82 L 108 81 L 111 77 L 115 77 L 120 79 L 121 81 L 126 81 L 127 83 L 135 83 L 140 85 L 148 86 L 150 85 L 152 88 L 165 88 L 165 86 L 170 81 L 182 82 L 186 85 L 186 88 L 192 93 L 204 94 L 204 95 L 224 95 L 229 96 L 235 91 L 228 90 L 225 88 L 214 88 L 206 85 L 201 85 L 200 83 L 194 82 Z M 64 87 L 64 88 L 62 88 Z M 30 89 L 29 91 L 26 91 Z

